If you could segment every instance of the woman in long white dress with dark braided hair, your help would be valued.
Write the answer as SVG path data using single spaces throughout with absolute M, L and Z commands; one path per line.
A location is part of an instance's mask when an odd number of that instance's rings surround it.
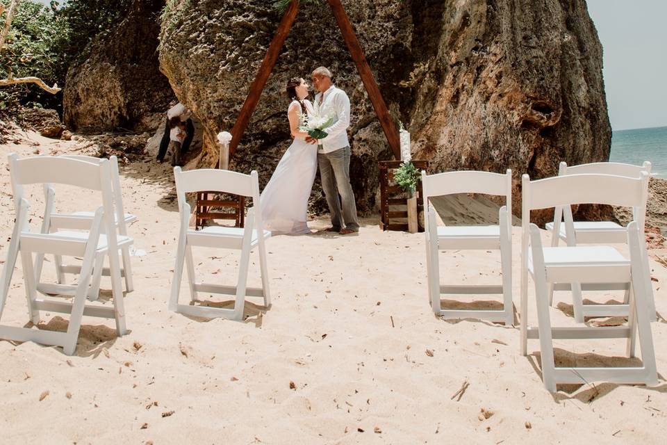
M 260 197 L 264 227 L 274 234 L 309 234 L 306 224 L 308 197 L 318 168 L 317 147 L 306 143 L 306 131 L 299 130 L 304 116 L 313 114 L 308 85 L 299 77 L 287 83 L 292 99 L 287 117 L 294 142 L 281 158 Z

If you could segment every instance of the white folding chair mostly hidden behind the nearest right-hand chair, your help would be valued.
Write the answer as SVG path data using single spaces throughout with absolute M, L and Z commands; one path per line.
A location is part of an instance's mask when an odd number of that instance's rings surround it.
M 632 165 L 625 163 L 614 162 L 596 162 L 582 165 L 568 166 L 567 163 L 561 162 L 559 165 L 559 176 L 566 175 L 614 175 L 631 178 L 640 178 L 642 172 L 650 175 L 651 163 L 645 161 L 643 165 Z M 632 207 L 633 220 L 637 221 L 639 230 L 643 233 L 646 216 L 646 202 L 648 201 L 648 188 L 646 189 L 641 202 L 636 203 Z M 627 243 L 627 227 L 615 223 L 614 221 L 575 221 L 572 214 L 572 207 L 559 206 L 554 209 L 554 222 L 545 225 L 547 230 L 552 232 L 552 247 L 559 245 L 559 241 L 565 241 L 566 245 L 580 245 L 580 244 L 607 244 L 607 243 Z M 641 246 L 645 250 L 645 244 Z M 648 258 L 648 255 L 645 256 Z M 645 273 L 650 279 L 650 269 L 648 264 L 645 267 Z M 605 316 L 609 310 L 603 305 L 584 305 L 582 298 L 582 291 L 625 291 L 623 302 L 627 303 L 629 298 L 629 283 L 618 283 L 601 289 L 600 286 L 584 286 L 582 289 L 579 283 L 550 283 L 549 284 L 549 303 L 553 304 L 554 291 L 572 291 L 573 311 L 575 320 L 579 323 L 584 322 L 585 316 Z M 650 287 L 650 305 L 649 316 L 652 321 L 657 319 L 655 312 L 655 303 L 653 298 L 653 289 Z M 602 312 L 600 312 L 602 311 Z M 627 315 L 627 314 L 625 314 Z

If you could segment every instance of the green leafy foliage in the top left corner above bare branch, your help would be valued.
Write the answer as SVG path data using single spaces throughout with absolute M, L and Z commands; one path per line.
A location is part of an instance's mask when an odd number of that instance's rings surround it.
M 57 1 L 50 6 L 20 1 L 0 53 L 0 76 L 6 78 L 11 70 L 15 77 L 36 76 L 62 87 L 69 65 L 87 54 L 85 49 L 94 38 L 113 29 L 129 3 L 69 0 L 61 8 Z M 17 103 L 59 109 L 60 102 L 60 93 L 51 95 L 32 84 L 0 89 L 0 109 Z

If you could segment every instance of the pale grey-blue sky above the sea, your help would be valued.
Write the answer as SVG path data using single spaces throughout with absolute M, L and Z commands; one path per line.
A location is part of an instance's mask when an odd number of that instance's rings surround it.
M 667 0 L 587 3 L 602 42 L 611 128 L 667 126 Z

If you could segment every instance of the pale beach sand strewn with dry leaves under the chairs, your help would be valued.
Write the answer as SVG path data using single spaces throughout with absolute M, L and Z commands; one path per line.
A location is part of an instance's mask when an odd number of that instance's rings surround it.
M 62 153 L 76 145 L 28 136 L 40 147 L 0 146 L 2 259 L 13 224 L 7 154 L 26 156 L 35 148 Z M 121 169 L 126 210 L 140 217 L 130 233 L 136 247 L 147 251 L 133 262 L 135 291 L 126 298 L 130 332 L 117 339 L 113 321 L 84 318 L 74 357 L 34 343 L 0 341 L 0 442 L 664 443 L 663 379 L 653 389 L 585 385 L 552 396 L 543 388 L 534 355 L 519 355 L 517 329 L 434 317 L 427 302 L 423 235 L 381 232 L 374 218 L 363 220 L 356 237 L 270 239 L 274 305 L 263 316 L 250 303 L 244 323 L 167 312 L 177 232 L 174 200 L 165 199 L 175 197 L 170 168 L 134 163 Z M 41 197 L 41 191 L 33 193 Z M 83 194 L 63 195 L 63 209 L 93 207 Z M 35 205 L 33 211 L 35 225 L 42 210 Z M 312 225 L 325 227 L 326 220 Z M 515 252 L 518 240 L 515 229 Z M 236 252 L 195 251 L 195 256 L 201 273 L 215 273 L 209 279 L 233 280 L 236 270 L 227 266 L 236 264 Z M 251 284 L 259 282 L 256 260 L 254 255 Z M 514 264 L 518 305 L 518 255 Z M 664 315 L 667 289 L 661 286 L 667 271 L 652 266 L 657 307 Z M 452 280 L 495 282 L 500 256 L 443 254 L 441 268 Z M 22 287 L 18 268 L 3 323 L 26 323 Z M 185 302 L 185 283 L 181 289 Z M 559 297 L 569 302 L 566 294 Z M 534 307 L 531 314 L 535 320 Z M 572 323 L 557 309 L 552 316 Z M 42 319 L 65 326 L 53 314 L 42 313 Z M 663 319 L 652 327 L 664 374 L 667 324 Z M 573 353 L 625 351 L 623 341 L 559 345 Z M 538 343 L 529 343 L 529 351 L 536 350 Z M 465 381 L 470 387 L 460 401 L 451 400 Z M 44 391 L 49 394 L 40 401 Z M 493 415 L 480 420 L 481 409 Z

